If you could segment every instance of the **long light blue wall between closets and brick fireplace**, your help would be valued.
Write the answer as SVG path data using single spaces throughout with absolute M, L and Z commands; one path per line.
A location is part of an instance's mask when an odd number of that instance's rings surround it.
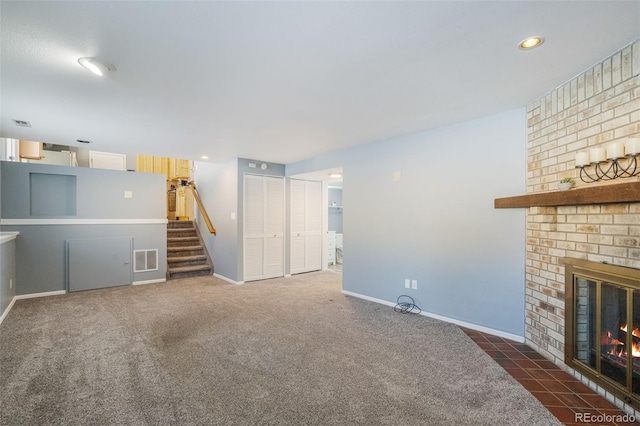
M 525 192 L 525 136 L 518 109 L 291 164 L 287 175 L 343 167 L 344 290 L 408 294 L 428 312 L 522 336 L 525 212 L 493 201 Z

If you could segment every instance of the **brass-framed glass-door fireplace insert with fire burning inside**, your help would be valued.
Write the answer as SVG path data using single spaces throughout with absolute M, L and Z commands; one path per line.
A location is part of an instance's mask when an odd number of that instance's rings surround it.
M 640 270 L 579 259 L 565 265 L 565 362 L 640 407 Z

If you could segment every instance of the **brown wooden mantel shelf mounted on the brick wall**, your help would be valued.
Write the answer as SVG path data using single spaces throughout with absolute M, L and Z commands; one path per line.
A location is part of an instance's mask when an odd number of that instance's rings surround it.
M 496 198 L 496 209 L 640 202 L 640 182 Z

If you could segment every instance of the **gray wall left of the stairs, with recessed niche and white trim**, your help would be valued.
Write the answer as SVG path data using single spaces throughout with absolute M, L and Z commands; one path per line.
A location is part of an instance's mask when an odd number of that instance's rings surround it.
M 73 199 L 66 198 L 63 203 L 66 210 L 60 209 L 57 196 L 62 193 L 66 197 L 71 187 L 60 190 L 53 186 L 48 192 L 33 193 L 38 197 L 37 215 L 33 214 L 32 174 L 50 175 L 52 181 L 60 185 L 75 184 Z M 166 220 L 163 175 L 3 162 L 0 176 L 3 220 Z M 125 198 L 125 191 L 131 191 L 132 198 Z M 69 203 L 74 204 L 73 209 Z M 49 204 L 55 207 L 53 214 L 42 214 Z M 133 282 L 166 277 L 167 242 L 163 223 L 3 225 L 2 230 L 20 232 L 16 240 L 18 295 L 66 290 L 65 242 L 70 239 L 132 238 L 134 250 L 158 249 L 158 270 L 134 273 Z

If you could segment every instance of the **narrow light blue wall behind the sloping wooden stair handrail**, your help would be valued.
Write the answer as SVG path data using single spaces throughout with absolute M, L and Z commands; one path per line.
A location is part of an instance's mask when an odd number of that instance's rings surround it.
M 217 235 L 209 233 L 198 209 L 196 223 L 213 261 L 214 273 L 233 281 L 238 276 L 238 161 L 196 162 L 194 181 Z M 232 219 L 231 214 L 236 218 Z

